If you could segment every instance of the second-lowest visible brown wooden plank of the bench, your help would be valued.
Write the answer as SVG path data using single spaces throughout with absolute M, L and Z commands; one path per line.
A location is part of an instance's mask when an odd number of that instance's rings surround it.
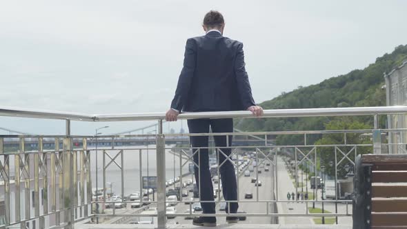
M 407 199 L 373 198 L 372 212 L 407 212 Z

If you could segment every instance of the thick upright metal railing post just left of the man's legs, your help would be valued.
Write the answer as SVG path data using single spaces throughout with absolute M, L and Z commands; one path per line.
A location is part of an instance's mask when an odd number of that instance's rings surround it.
M 163 121 L 159 119 L 157 133 L 157 226 L 166 228 L 166 148 Z

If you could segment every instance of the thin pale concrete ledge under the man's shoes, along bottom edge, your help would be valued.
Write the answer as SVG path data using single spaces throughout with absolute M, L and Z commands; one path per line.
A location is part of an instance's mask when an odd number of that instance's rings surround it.
M 131 229 L 131 228 L 156 228 L 154 225 L 137 225 L 137 224 L 82 224 L 75 226 L 79 229 Z M 192 224 L 168 224 L 167 228 L 206 228 L 201 226 L 193 226 Z M 350 225 L 295 225 L 295 224 L 223 224 L 218 225 L 216 228 L 224 229 L 253 229 L 253 228 L 268 228 L 268 229 L 352 229 Z

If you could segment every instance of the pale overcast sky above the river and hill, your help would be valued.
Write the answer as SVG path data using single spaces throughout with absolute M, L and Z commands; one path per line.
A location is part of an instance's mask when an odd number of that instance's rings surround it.
M 244 43 L 257 103 L 365 68 L 407 43 L 402 0 L 1 1 L 0 106 L 165 112 L 186 39 L 203 34 L 212 9 L 224 14 L 224 36 Z M 110 123 L 106 133 L 145 124 Z M 75 122 L 72 133 L 101 125 Z M 63 133 L 62 121 L 0 117 L 0 127 Z

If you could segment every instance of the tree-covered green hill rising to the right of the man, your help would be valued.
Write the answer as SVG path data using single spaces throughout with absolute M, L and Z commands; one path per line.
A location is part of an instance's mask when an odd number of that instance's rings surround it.
M 390 54 L 376 59 L 363 70 L 353 70 L 348 74 L 326 79 L 321 83 L 299 87 L 292 92 L 282 93 L 274 99 L 260 104 L 264 109 L 290 108 L 337 108 L 353 106 L 386 106 L 384 72 L 389 72 L 407 59 L 407 46 L 398 46 Z M 311 117 L 278 119 L 241 119 L 235 127 L 246 131 L 278 130 L 326 130 L 330 128 L 372 128 L 372 117 Z M 380 124 L 386 125 L 386 117 Z M 309 143 L 320 137 L 307 139 Z M 277 144 L 299 143 L 301 137 L 278 136 Z

